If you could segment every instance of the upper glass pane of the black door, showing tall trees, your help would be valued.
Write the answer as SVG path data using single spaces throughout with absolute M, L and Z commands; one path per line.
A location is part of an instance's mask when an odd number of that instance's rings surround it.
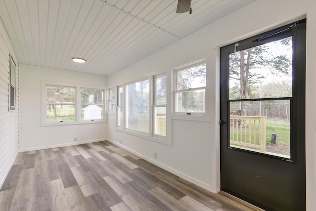
M 230 99 L 292 97 L 292 37 L 230 54 Z

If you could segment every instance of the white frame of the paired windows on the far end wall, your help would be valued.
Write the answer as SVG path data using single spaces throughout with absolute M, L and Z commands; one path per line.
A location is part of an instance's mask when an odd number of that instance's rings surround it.
M 47 108 L 47 86 L 60 86 L 60 87 L 75 87 L 75 120 L 74 121 L 47 121 L 46 108 Z M 100 120 L 80 120 L 81 113 L 81 88 L 85 89 L 101 89 L 104 93 L 103 98 L 103 119 Z M 67 84 L 67 83 L 58 83 L 58 82 L 41 82 L 41 127 L 46 126 L 64 126 L 64 125 L 81 125 L 81 124 L 97 124 L 97 123 L 106 123 L 107 122 L 107 105 L 104 102 L 104 99 L 107 99 L 107 88 L 104 86 L 90 86 L 82 84 Z

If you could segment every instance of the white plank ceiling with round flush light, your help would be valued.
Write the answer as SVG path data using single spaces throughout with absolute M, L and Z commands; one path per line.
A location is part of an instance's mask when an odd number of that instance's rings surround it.
M 0 17 L 20 63 L 107 76 L 252 1 L 0 0 Z

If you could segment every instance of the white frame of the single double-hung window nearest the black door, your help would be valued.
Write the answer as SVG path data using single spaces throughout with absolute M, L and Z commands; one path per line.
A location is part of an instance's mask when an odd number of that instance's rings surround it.
M 195 88 L 188 88 L 188 89 L 178 89 L 178 72 L 180 71 L 184 71 L 184 70 L 188 70 L 191 69 L 193 67 L 197 67 L 200 65 L 205 65 L 206 71 L 205 71 L 205 86 L 199 86 L 199 87 L 195 87 Z M 177 116 L 206 116 L 206 111 L 207 111 L 207 104 L 206 104 L 206 87 L 207 87 L 207 62 L 206 59 L 200 59 L 185 65 L 181 65 L 179 67 L 173 68 L 173 94 L 172 94 L 172 112 L 173 115 L 177 115 Z M 177 93 L 184 93 L 184 92 L 189 92 L 189 91 L 196 91 L 196 90 L 204 90 L 205 92 L 205 111 L 204 112 L 179 112 L 177 111 L 177 105 L 178 105 L 178 101 L 177 101 Z

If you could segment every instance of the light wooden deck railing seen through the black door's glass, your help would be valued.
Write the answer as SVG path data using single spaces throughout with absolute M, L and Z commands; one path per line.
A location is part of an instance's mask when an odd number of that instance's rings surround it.
M 230 116 L 231 144 L 266 152 L 266 117 Z

